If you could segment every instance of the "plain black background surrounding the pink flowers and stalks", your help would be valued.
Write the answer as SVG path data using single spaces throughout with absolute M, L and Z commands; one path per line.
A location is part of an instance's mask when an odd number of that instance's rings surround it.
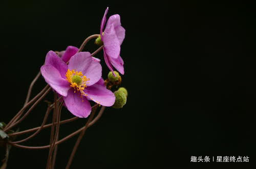
M 248 156 L 255 165 L 255 9 L 237 3 L 97 4 L 87 1 L 4 1 L 1 5 L 1 117 L 22 108 L 28 86 L 48 51 L 99 33 L 100 21 L 118 13 L 126 30 L 121 46 L 129 91 L 123 109 L 108 108 L 80 143 L 71 168 L 231 167 L 191 163 L 191 156 Z M 84 51 L 93 52 L 91 41 Z M 102 52 L 102 76 L 109 70 Z M 46 85 L 40 78 L 33 95 Z M 52 101 L 49 94 L 47 100 Z M 19 125 L 40 126 L 46 103 Z M 65 108 L 62 119 L 73 117 Z M 64 137 L 86 119 L 62 125 Z M 49 122 L 50 123 L 50 119 Z M 46 129 L 22 143 L 49 143 Z M 25 135 L 26 136 L 26 135 Z M 29 136 L 29 135 L 27 135 Z M 18 137 L 17 139 L 22 139 Z M 65 168 L 77 137 L 58 147 Z M 2 153 L 3 154 L 3 153 Z M 48 150 L 12 148 L 8 168 L 45 168 Z

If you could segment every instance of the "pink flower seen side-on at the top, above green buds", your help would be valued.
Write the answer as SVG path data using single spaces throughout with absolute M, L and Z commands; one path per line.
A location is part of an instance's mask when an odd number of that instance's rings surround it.
M 106 22 L 106 14 L 109 8 L 106 8 L 100 25 L 100 36 L 103 42 L 103 55 L 106 65 L 113 72 L 113 66 L 123 75 L 123 60 L 120 57 L 120 45 L 125 36 L 125 29 L 121 26 L 120 16 L 118 14 L 110 16 Z M 103 27 L 105 25 L 103 32 Z M 114 72 L 113 72 L 114 74 Z

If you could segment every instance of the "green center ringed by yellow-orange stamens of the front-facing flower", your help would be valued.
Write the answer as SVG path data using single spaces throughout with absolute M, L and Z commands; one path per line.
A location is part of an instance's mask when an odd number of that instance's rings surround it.
M 86 76 L 83 76 L 81 71 L 76 71 L 76 70 L 70 70 L 68 69 L 66 73 L 67 81 L 71 84 L 70 87 L 73 87 L 75 89 L 74 92 L 80 91 L 81 96 L 87 95 L 84 93 L 84 89 L 87 87 L 86 84 L 88 83 L 90 79 L 88 79 Z

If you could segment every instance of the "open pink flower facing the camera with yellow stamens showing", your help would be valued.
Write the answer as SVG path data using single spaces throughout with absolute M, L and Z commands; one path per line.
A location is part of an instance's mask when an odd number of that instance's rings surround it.
M 55 52 L 46 55 L 41 74 L 45 81 L 60 95 L 68 110 L 78 117 L 88 117 L 92 100 L 103 106 L 112 106 L 115 95 L 106 89 L 101 78 L 101 65 L 89 52 L 72 56 L 67 65 Z

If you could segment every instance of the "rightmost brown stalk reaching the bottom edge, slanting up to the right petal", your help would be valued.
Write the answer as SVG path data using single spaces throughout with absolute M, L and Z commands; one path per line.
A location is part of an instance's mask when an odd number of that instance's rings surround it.
M 69 169 L 69 168 L 70 168 L 70 165 L 71 165 L 71 163 L 72 163 L 72 161 L 73 161 L 73 158 L 74 158 L 74 156 L 75 156 L 76 150 L 77 150 L 77 148 L 78 148 L 78 146 L 79 146 L 79 144 L 80 144 L 80 142 L 81 142 L 81 140 L 82 140 L 82 137 L 83 137 L 84 133 L 86 133 L 86 130 L 88 129 L 89 123 L 91 122 L 92 118 L 94 117 L 94 114 L 95 114 L 96 109 L 97 109 L 97 108 L 95 108 L 95 109 L 93 110 L 92 114 L 90 115 L 89 119 L 87 120 L 86 125 L 84 126 L 83 130 L 81 131 L 80 135 L 78 136 L 77 141 L 76 141 L 76 143 L 75 143 L 75 146 L 74 146 L 74 148 L 73 148 L 73 151 L 72 151 L 72 153 L 71 153 L 71 155 L 70 155 L 70 157 L 69 157 L 69 161 L 68 161 L 68 164 L 67 164 L 67 166 L 66 166 L 66 169 Z

